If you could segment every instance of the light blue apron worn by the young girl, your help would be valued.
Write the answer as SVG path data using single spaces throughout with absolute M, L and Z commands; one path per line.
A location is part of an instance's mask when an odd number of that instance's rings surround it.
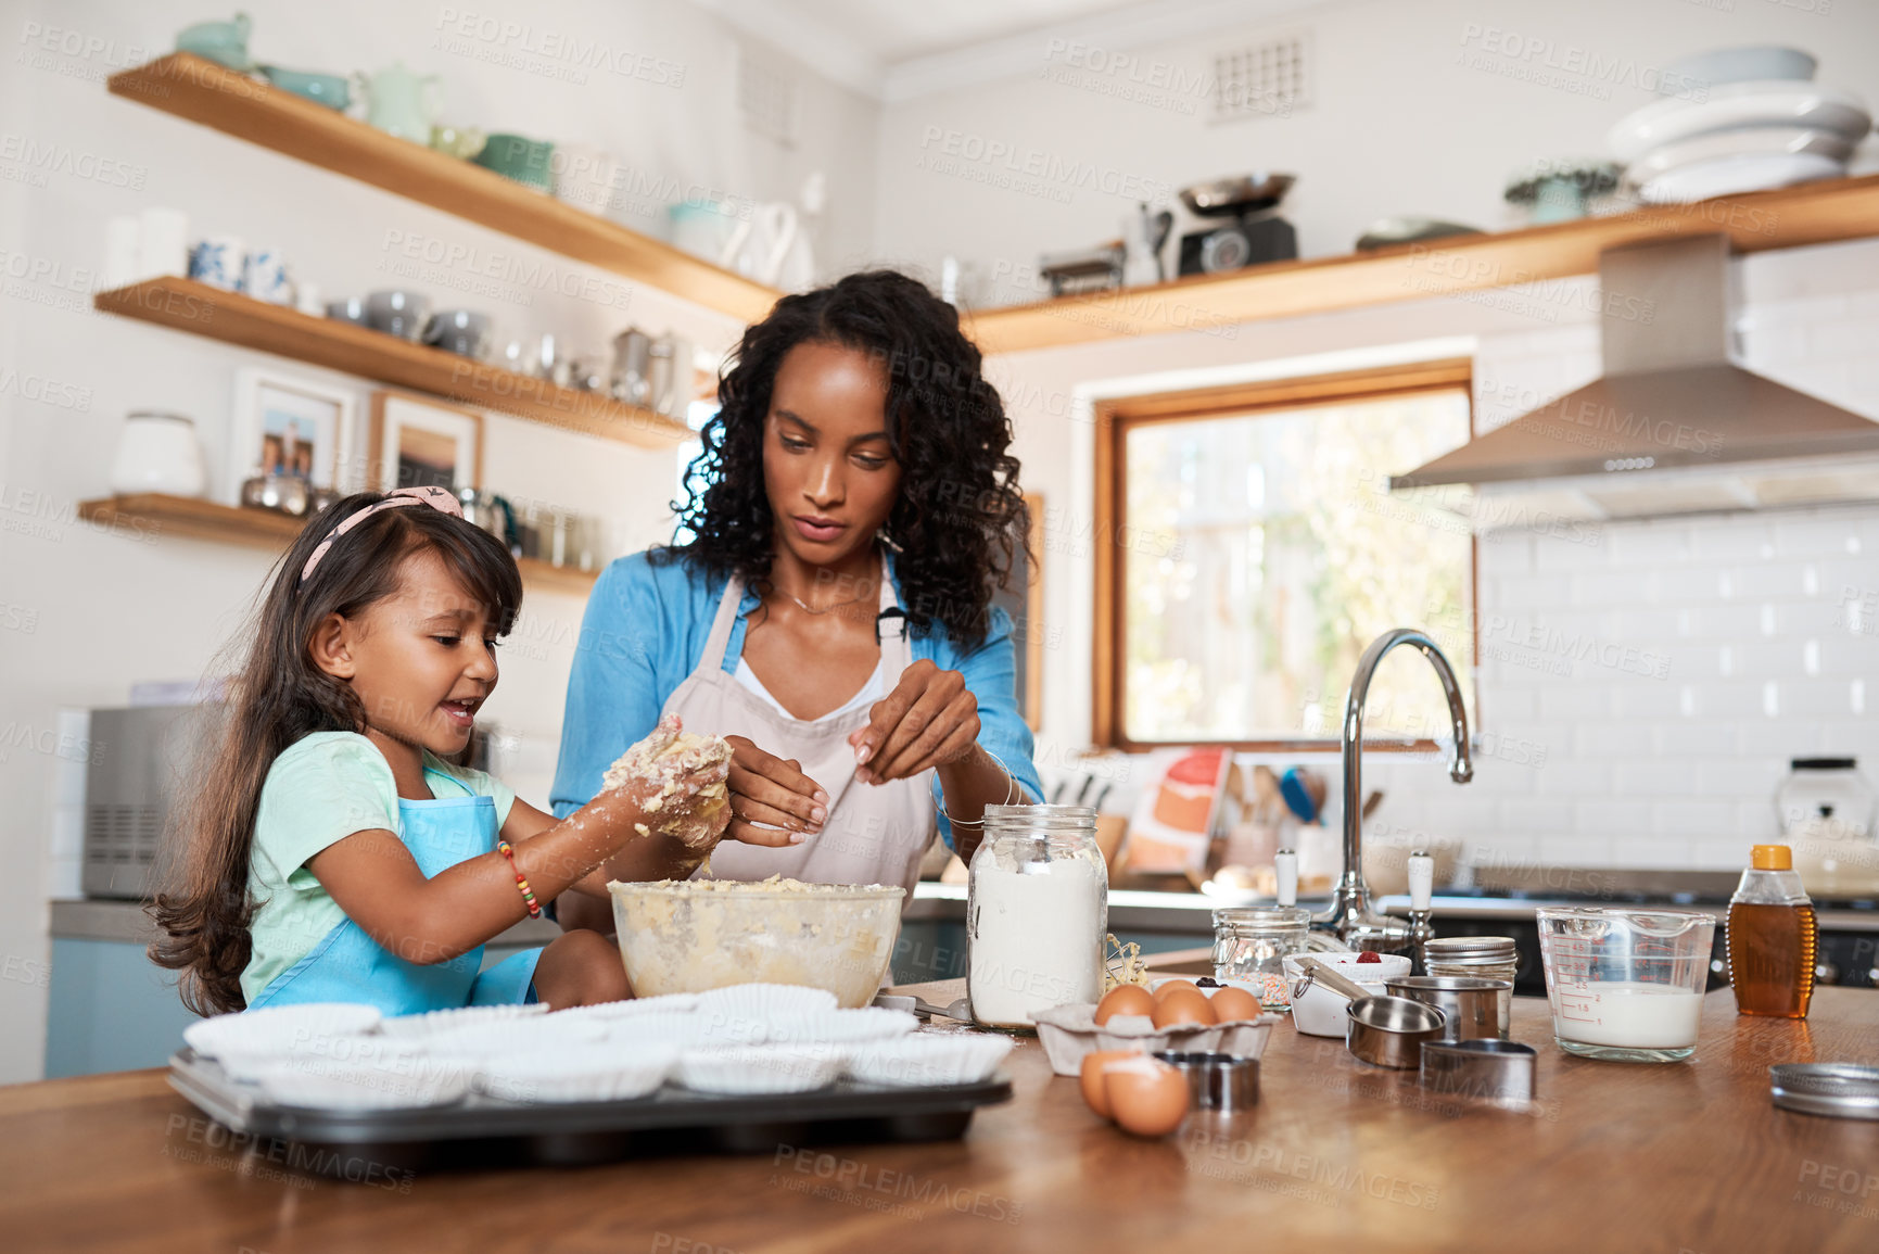
M 427 771 L 427 778 L 440 776 Z M 496 799 L 400 797 L 398 825 L 404 848 L 412 852 L 417 869 L 428 880 L 457 863 L 496 850 Z M 344 919 L 321 936 L 312 953 L 261 989 L 248 1010 L 303 1002 L 366 1002 L 387 1015 L 415 1015 L 427 1010 L 534 1002 L 539 959 L 541 949 L 524 949 L 477 974 L 483 964 L 483 946 L 477 946 L 447 963 L 410 963 L 372 940 L 351 919 Z

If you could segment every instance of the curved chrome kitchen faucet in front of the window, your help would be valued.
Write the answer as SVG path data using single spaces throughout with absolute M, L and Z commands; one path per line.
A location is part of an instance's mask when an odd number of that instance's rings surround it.
M 1364 656 L 1357 660 L 1351 692 L 1343 699 L 1343 874 L 1338 878 L 1338 887 L 1332 889 L 1330 908 L 1312 917 L 1313 931 L 1334 933 L 1351 949 L 1398 951 L 1417 940 L 1407 921 L 1370 908 L 1360 833 L 1364 822 L 1364 701 L 1370 698 L 1370 679 L 1375 675 L 1377 664 L 1396 645 L 1419 649 L 1436 667 L 1441 692 L 1449 698 L 1449 716 L 1454 720 L 1454 761 L 1449 765 L 1449 778 L 1456 784 L 1475 778 L 1475 763 L 1467 756 L 1467 713 L 1462 709 L 1462 690 L 1454 682 L 1449 658 L 1441 654 L 1436 641 L 1415 628 L 1394 628 L 1374 639 Z

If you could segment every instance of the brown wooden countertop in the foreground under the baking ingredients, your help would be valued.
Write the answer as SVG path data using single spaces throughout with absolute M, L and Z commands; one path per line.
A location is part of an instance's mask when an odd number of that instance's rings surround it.
M 1539 1047 L 1524 1111 L 1424 1096 L 1281 1023 L 1257 1109 L 1161 1141 L 1099 1122 L 1026 1040 L 1013 1102 L 960 1141 L 363 1184 L 231 1152 L 160 1070 L 15 1085 L 0 1224 L 9 1250 L 192 1254 L 1879 1248 L 1879 1122 L 1779 1111 L 1766 1077 L 1879 1062 L 1879 993 L 1823 989 L 1806 1023 L 1712 993 L 1699 1057 L 1670 1066 L 1561 1055 L 1543 1000 L 1513 1023 Z

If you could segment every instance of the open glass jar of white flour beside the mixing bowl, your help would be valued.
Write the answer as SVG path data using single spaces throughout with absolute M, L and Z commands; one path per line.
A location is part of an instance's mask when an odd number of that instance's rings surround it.
M 966 882 L 966 996 L 979 1027 L 1103 996 L 1109 869 L 1095 808 L 988 805 Z

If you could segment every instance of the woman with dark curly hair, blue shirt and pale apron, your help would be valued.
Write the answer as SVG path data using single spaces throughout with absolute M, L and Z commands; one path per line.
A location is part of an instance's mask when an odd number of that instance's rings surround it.
M 1041 795 L 992 607 L 1028 521 L 1011 423 L 953 306 L 891 271 L 778 301 L 718 399 L 691 543 L 614 562 L 588 600 L 554 812 L 676 713 L 735 750 L 714 876 L 911 899 L 936 820 L 970 859 L 986 805 Z M 624 857 L 697 863 L 665 837 Z

